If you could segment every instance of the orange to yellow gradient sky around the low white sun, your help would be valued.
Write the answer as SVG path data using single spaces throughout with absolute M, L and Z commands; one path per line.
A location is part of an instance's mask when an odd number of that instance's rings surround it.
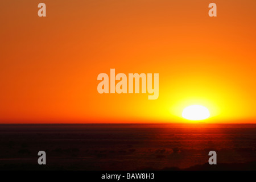
M 38 16 L 38 3 L 47 16 Z M 208 5 L 217 4 L 217 17 Z M 0 123 L 256 121 L 256 1 L 1 1 Z M 159 73 L 159 98 L 97 76 Z

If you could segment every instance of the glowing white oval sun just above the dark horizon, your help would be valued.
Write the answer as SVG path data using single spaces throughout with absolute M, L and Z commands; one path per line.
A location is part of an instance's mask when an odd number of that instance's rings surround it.
M 203 120 L 210 117 L 210 112 L 207 107 L 192 105 L 185 107 L 182 112 L 182 117 L 189 120 Z

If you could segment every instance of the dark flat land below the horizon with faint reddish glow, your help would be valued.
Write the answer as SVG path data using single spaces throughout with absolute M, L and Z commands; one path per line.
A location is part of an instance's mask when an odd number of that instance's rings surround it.
M 0 125 L 1 170 L 256 170 L 255 151 L 251 124 Z

